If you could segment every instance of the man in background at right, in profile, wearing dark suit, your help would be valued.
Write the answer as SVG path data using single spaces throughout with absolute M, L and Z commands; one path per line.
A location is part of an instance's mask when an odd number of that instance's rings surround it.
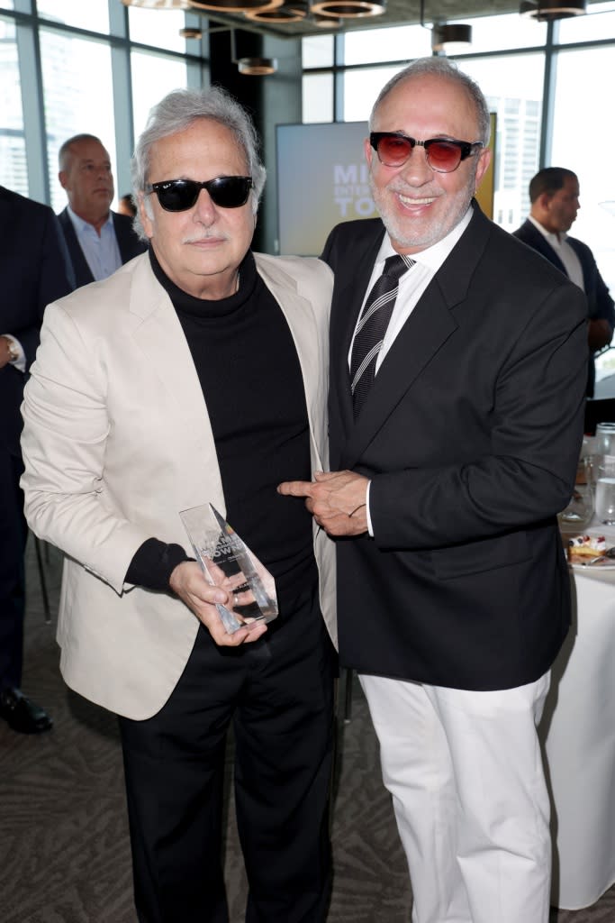
M 576 220 L 579 204 L 579 180 L 572 170 L 545 167 L 529 184 L 532 204 L 529 217 L 514 231 L 514 236 L 538 250 L 587 296 L 589 364 L 587 397 L 594 396 L 596 366 L 594 354 L 608 346 L 615 328 L 615 310 L 609 289 L 600 275 L 594 254 L 583 241 L 567 232 Z

